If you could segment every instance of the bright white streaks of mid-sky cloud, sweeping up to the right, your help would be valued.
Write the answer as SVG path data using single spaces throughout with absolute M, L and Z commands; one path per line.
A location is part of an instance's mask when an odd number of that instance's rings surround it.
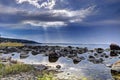
M 88 7 L 86 9 L 71 11 L 71 10 L 50 10 L 50 11 L 44 11 L 39 12 L 35 15 L 42 15 L 42 14 L 50 14 L 48 18 L 60 18 L 63 21 L 51 21 L 51 19 L 48 21 L 39 21 L 39 20 L 25 20 L 23 21 L 23 24 L 30 24 L 33 26 L 42 26 L 42 27 L 59 27 L 59 26 L 66 26 L 69 23 L 80 23 L 83 21 L 84 18 L 91 15 L 93 12 L 95 6 Z M 29 14 L 29 16 L 32 14 Z

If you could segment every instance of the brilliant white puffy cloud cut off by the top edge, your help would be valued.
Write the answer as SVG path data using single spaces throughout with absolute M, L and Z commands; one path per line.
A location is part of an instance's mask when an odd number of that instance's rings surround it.
M 56 3 L 56 0 L 47 0 L 44 2 L 42 2 L 42 0 L 16 0 L 16 1 L 18 4 L 22 4 L 23 2 L 28 2 L 29 4 L 37 8 L 47 8 L 47 9 L 53 9 Z

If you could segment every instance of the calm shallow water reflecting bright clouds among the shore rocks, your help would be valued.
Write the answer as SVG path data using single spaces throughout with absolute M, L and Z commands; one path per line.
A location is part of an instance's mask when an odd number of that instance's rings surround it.
M 108 45 L 79 45 L 78 47 L 87 47 L 88 49 L 94 49 L 98 47 L 104 49 L 109 48 Z M 110 52 L 105 53 L 107 55 L 110 54 Z M 79 54 L 78 56 L 85 57 L 85 60 L 74 64 L 73 60 L 67 57 L 60 57 L 59 59 L 56 59 L 56 61 L 51 62 L 49 57 L 45 56 L 44 54 L 32 55 L 31 52 L 29 52 L 29 57 L 22 59 L 20 58 L 19 53 L 14 52 L 11 54 L 14 54 L 14 56 L 12 56 L 12 59 L 24 62 L 26 64 L 44 64 L 53 68 L 56 68 L 57 65 L 61 65 L 60 71 L 63 72 L 58 73 L 57 77 L 59 77 L 60 79 L 68 80 L 80 80 L 82 78 L 87 78 L 87 80 L 113 80 L 110 68 L 106 67 L 106 65 L 113 64 L 114 62 L 119 60 L 119 56 L 109 57 L 104 58 L 105 61 L 103 63 L 94 64 L 88 61 L 88 56 L 93 55 L 93 53 L 84 53 Z M 2 56 L 11 56 L 11 54 L 2 54 Z

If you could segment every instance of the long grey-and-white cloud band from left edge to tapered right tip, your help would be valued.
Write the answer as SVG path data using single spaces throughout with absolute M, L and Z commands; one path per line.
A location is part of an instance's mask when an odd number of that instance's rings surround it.
M 3 5 L 0 5 L 0 8 L 2 9 L 0 10 L 0 24 L 30 24 L 40 27 L 59 27 L 67 26 L 70 23 L 82 22 L 87 16 L 93 14 L 95 6 L 80 10 L 52 9 L 34 12 Z

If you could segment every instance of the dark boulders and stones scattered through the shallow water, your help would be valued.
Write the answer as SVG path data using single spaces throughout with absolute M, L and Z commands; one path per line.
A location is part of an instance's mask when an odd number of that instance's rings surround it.
M 62 47 L 62 46 L 22 46 L 22 47 L 1 47 L 0 53 L 9 54 L 12 53 L 11 56 L 14 56 L 13 52 L 20 53 L 20 58 L 24 59 L 29 57 L 29 53 L 32 55 L 44 54 L 44 56 L 48 56 L 48 60 L 51 63 L 56 62 L 60 57 L 66 57 L 73 60 L 74 64 L 78 64 L 82 60 L 85 60 L 86 57 L 82 56 L 82 54 L 89 54 L 87 56 L 87 60 L 94 64 L 101 64 L 104 62 L 105 58 L 115 57 L 120 54 L 120 46 L 117 44 L 111 44 L 110 48 L 95 48 L 93 50 L 89 50 L 87 47 Z M 108 54 L 110 52 L 110 54 Z M 17 61 L 12 60 L 10 57 L 0 57 L 2 62 L 10 62 L 16 63 Z M 117 70 L 116 70 L 117 66 Z M 44 70 L 47 69 L 44 65 L 35 66 L 36 70 Z M 61 65 L 56 66 L 57 69 L 61 68 Z M 119 71 L 120 63 L 117 62 L 112 65 L 112 70 Z

